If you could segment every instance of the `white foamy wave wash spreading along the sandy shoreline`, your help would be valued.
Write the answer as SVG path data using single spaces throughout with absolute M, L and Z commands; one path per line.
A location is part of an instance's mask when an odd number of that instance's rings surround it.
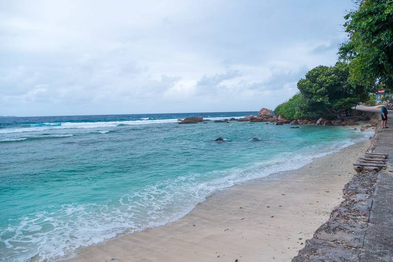
M 358 140 L 365 139 L 367 135 Z M 98 244 L 119 233 L 179 220 L 217 190 L 275 172 L 297 169 L 311 163 L 314 158 L 337 152 L 356 141 L 340 141 L 327 148 L 315 145 L 302 154 L 283 153 L 274 160 L 245 168 L 168 179 L 123 195 L 118 200 L 119 204 L 56 206 L 51 209 L 55 211 L 40 211 L 23 217 L 17 226 L 9 226 L 6 231 L 0 232 L 0 237 L 5 239 L 6 247 L 14 251 L 14 243 L 25 244 L 16 251 L 20 255 L 13 257 L 13 261 L 22 262 L 26 257 L 37 254 L 38 261 L 56 261 L 60 257 L 71 256 L 79 247 Z M 1 261 L 7 259 L 10 260 L 8 257 L 0 258 Z

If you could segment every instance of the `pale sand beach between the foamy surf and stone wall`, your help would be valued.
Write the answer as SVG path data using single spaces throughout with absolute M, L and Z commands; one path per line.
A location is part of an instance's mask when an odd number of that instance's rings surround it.
M 183 219 L 125 234 L 68 261 L 290 261 L 342 201 L 369 141 L 218 192 Z

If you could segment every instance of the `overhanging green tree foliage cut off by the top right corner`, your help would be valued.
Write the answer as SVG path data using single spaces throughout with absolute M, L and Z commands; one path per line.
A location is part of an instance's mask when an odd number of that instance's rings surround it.
M 345 15 L 348 41 L 339 56 L 350 63 L 350 81 L 370 91 L 393 91 L 393 1 L 355 1 L 358 9 Z

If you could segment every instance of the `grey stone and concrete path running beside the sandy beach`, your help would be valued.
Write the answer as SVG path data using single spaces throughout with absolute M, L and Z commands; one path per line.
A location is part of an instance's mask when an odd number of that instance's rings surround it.
M 376 107 L 356 109 L 380 112 Z M 374 141 L 374 152 L 389 154 L 388 167 L 357 174 L 343 189 L 345 200 L 306 241 L 293 262 L 393 262 L 393 112 L 389 113 L 390 128 L 379 127 Z

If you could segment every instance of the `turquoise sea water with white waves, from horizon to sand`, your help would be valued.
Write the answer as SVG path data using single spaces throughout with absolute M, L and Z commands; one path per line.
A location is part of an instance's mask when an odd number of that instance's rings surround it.
M 0 118 L 0 261 L 55 261 L 164 225 L 216 190 L 298 168 L 368 135 L 176 121 L 251 113 Z M 220 136 L 226 141 L 213 141 Z

